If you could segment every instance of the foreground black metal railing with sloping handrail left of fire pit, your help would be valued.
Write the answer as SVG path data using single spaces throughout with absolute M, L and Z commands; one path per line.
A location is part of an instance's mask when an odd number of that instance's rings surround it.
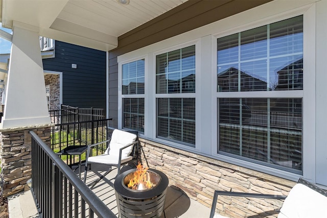
M 41 217 L 116 217 L 83 181 L 35 134 L 32 192 Z

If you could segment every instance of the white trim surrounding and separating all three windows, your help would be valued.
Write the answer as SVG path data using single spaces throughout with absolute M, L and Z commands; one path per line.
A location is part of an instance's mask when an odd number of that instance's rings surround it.
M 143 137 L 167 144 L 174 148 L 213 157 L 228 163 L 241 165 L 260 172 L 279 176 L 296 181 L 300 175 L 285 172 L 276 168 L 255 164 L 252 162 L 217 155 L 217 96 L 230 96 L 232 93 L 217 93 L 216 50 L 217 37 L 223 37 L 237 32 L 267 25 L 275 21 L 281 21 L 303 14 L 303 91 L 287 91 L 291 97 L 303 95 L 303 177 L 315 182 L 315 18 L 316 1 L 286 1 L 275 0 L 255 7 L 248 11 L 216 21 L 198 29 L 180 34 L 178 36 L 157 42 L 118 57 L 119 62 L 119 91 L 121 92 L 121 64 L 126 60 L 132 61 L 146 56 L 145 64 L 145 134 Z M 219 34 L 218 34 L 219 33 Z M 198 41 L 196 45 L 196 148 L 183 146 L 182 144 L 156 139 L 156 94 L 155 94 L 155 55 L 168 51 L 174 51 L 192 41 Z M 208 52 L 211 49 L 211 53 Z M 138 58 L 135 58 L 138 57 Z M 200 60 L 200 61 L 199 61 Z M 210 73 L 209 73 L 210 72 Z M 310 72 L 310 74 L 308 73 Z M 211 80 L 211 86 L 209 85 Z M 241 94 L 242 95 L 242 94 Z M 260 91 L 254 93 L 262 97 Z M 119 93 L 119 127 L 121 127 L 121 93 Z M 160 95 L 162 96 L 162 95 Z M 176 95 L 177 96 L 177 95 Z M 183 95 L 184 96 L 184 95 Z M 266 92 L 266 97 L 274 97 L 276 94 Z M 278 93 L 279 96 L 279 93 Z M 209 113 L 206 113 L 209 111 Z M 311 114 L 310 114 L 311 113 Z M 209 123 L 208 123 L 209 120 Z M 323 144 L 321 145 L 323 146 Z

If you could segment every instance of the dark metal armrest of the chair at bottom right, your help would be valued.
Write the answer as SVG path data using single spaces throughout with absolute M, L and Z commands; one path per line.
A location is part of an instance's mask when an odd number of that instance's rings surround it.
M 234 191 L 218 191 L 215 190 L 214 199 L 211 206 L 210 218 L 213 218 L 216 211 L 216 204 L 218 196 L 235 196 L 235 197 L 245 197 L 245 198 L 266 198 L 266 199 L 286 199 L 287 196 L 281 195 L 266 195 L 262 193 L 245 193 L 245 192 L 234 192 Z

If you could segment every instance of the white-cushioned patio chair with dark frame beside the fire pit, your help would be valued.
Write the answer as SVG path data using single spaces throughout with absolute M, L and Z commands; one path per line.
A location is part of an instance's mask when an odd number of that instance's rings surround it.
M 91 148 L 98 144 L 109 142 L 109 146 L 104 154 L 91 156 Z M 112 132 L 111 138 L 96 144 L 90 144 L 86 152 L 84 183 L 86 182 L 86 175 L 88 165 L 92 163 L 107 165 L 108 170 L 99 179 L 92 182 L 94 187 L 102 178 L 112 171 L 112 166 L 118 168 L 117 175 L 120 174 L 121 165 L 127 164 L 138 158 L 138 138 L 137 131 L 123 131 L 115 129 Z

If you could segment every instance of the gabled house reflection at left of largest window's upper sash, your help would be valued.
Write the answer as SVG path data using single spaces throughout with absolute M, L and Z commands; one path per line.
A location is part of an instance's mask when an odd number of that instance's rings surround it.
M 239 71 L 242 91 L 267 90 L 267 82 L 263 79 L 255 78 L 236 67 L 229 67 L 218 74 L 218 91 L 238 91 Z

